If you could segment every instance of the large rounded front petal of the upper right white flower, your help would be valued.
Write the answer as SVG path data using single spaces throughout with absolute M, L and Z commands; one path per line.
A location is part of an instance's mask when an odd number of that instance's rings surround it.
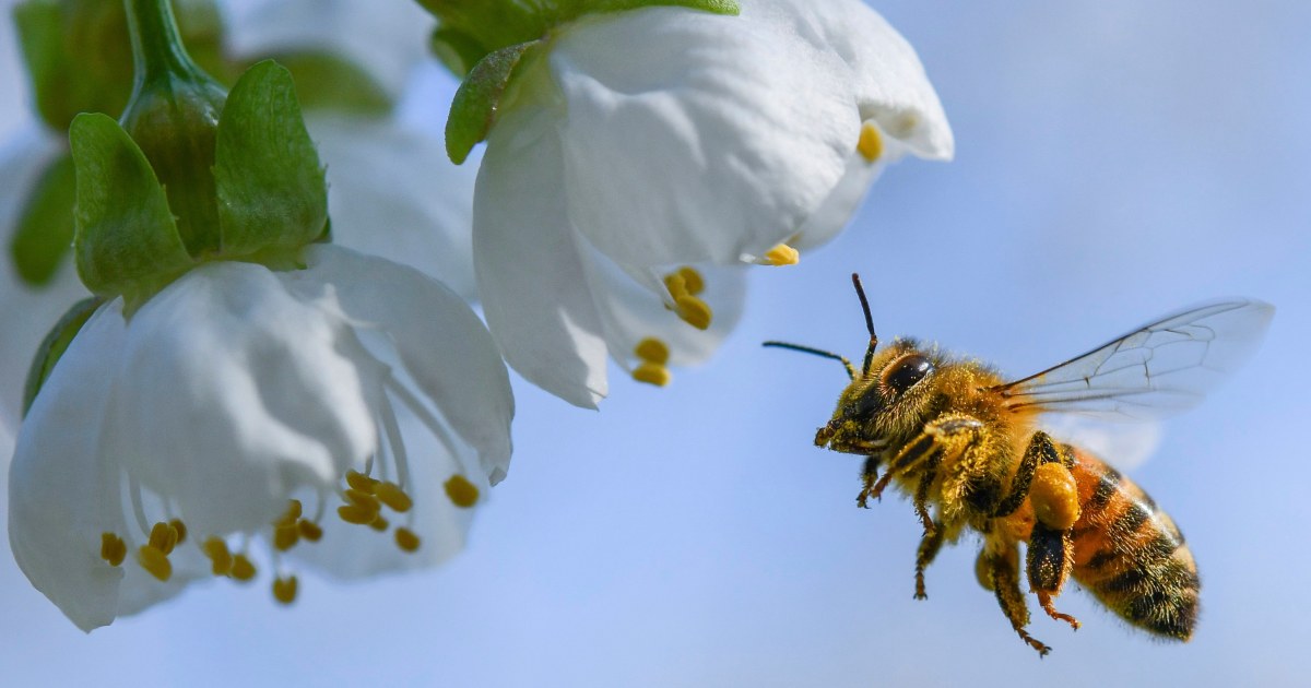
M 822 58 L 746 13 L 648 8 L 566 30 L 551 68 L 570 218 L 632 265 L 730 263 L 789 237 L 859 138 L 847 75 Z

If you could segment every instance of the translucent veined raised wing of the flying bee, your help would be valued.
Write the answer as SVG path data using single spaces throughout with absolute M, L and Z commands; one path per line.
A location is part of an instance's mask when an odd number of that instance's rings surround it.
M 991 389 L 1016 411 L 1164 418 L 1197 405 L 1247 360 L 1273 316 L 1273 305 L 1255 299 L 1211 301 Z

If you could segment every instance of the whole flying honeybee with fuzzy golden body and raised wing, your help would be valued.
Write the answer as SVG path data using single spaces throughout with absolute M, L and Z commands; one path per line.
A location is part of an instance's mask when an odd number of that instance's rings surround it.
M 996 595 L 1011 628 L 1030 636 L 1024 579 L 1038 605 L 1055 607 L 1072 577 L 1129 624 L 1188 641 L 1197 621 L 1197 565 L 1164 510 L 1101 459 L 1038 427 L 1044 413 L 1155 419 L 1194 405 L 1256 347 L 1274 308 L 1231 299 L 1155 320 L 1083 355 L 1007 381 L 994 368 L 933 345 L 899 338 L 878 350 L 869 301 L 852 275 L 869 346 L 857 370 L 838 354 L 773 346 L 840 362 L 851 384 L 815 446 L 865 456 L 857 506 L 889 485 L 911 498 L 923 524 L 915 598 L 947 543 L 982 536 L 979 583 Z

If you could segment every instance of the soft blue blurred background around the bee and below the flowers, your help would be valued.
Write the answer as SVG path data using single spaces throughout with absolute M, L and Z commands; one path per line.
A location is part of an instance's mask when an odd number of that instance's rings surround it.
M 469 550 L 304 581 L 292 612 L 216 584 L 88 637 L 0 557 L 7 684 L 1304 684 L 1311 5 L 878 7 L 927 64 L 957 160 L 895 166 L 851 231 L 759 269 L 709 366 L 665 391 L 619 379 L 600 413 L 519 384 L 514 469 Z M 910 506 L 855 508 L 859 460 L 810 446 L 842 371 L 759 347 L 859 355 L 852 271 L 885 337 L 1013 373 L 1213 295 L 1280 307 L 1256 359 L 1131 473 L 1200 561 L 1192 643 L 1071 591 L 1086 625 L 1036 619 L 1055 647 L 1040 662 L 974 582 L 970 543 L 911 599 Z

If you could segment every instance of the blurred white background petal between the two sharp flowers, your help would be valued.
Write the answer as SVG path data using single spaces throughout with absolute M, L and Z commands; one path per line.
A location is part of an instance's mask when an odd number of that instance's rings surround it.
M 333 241 L 417 267 L 473 300 L 476 166 L 454 165 L 440 139 L 391 118 L 307 121 L 328 165 Z

